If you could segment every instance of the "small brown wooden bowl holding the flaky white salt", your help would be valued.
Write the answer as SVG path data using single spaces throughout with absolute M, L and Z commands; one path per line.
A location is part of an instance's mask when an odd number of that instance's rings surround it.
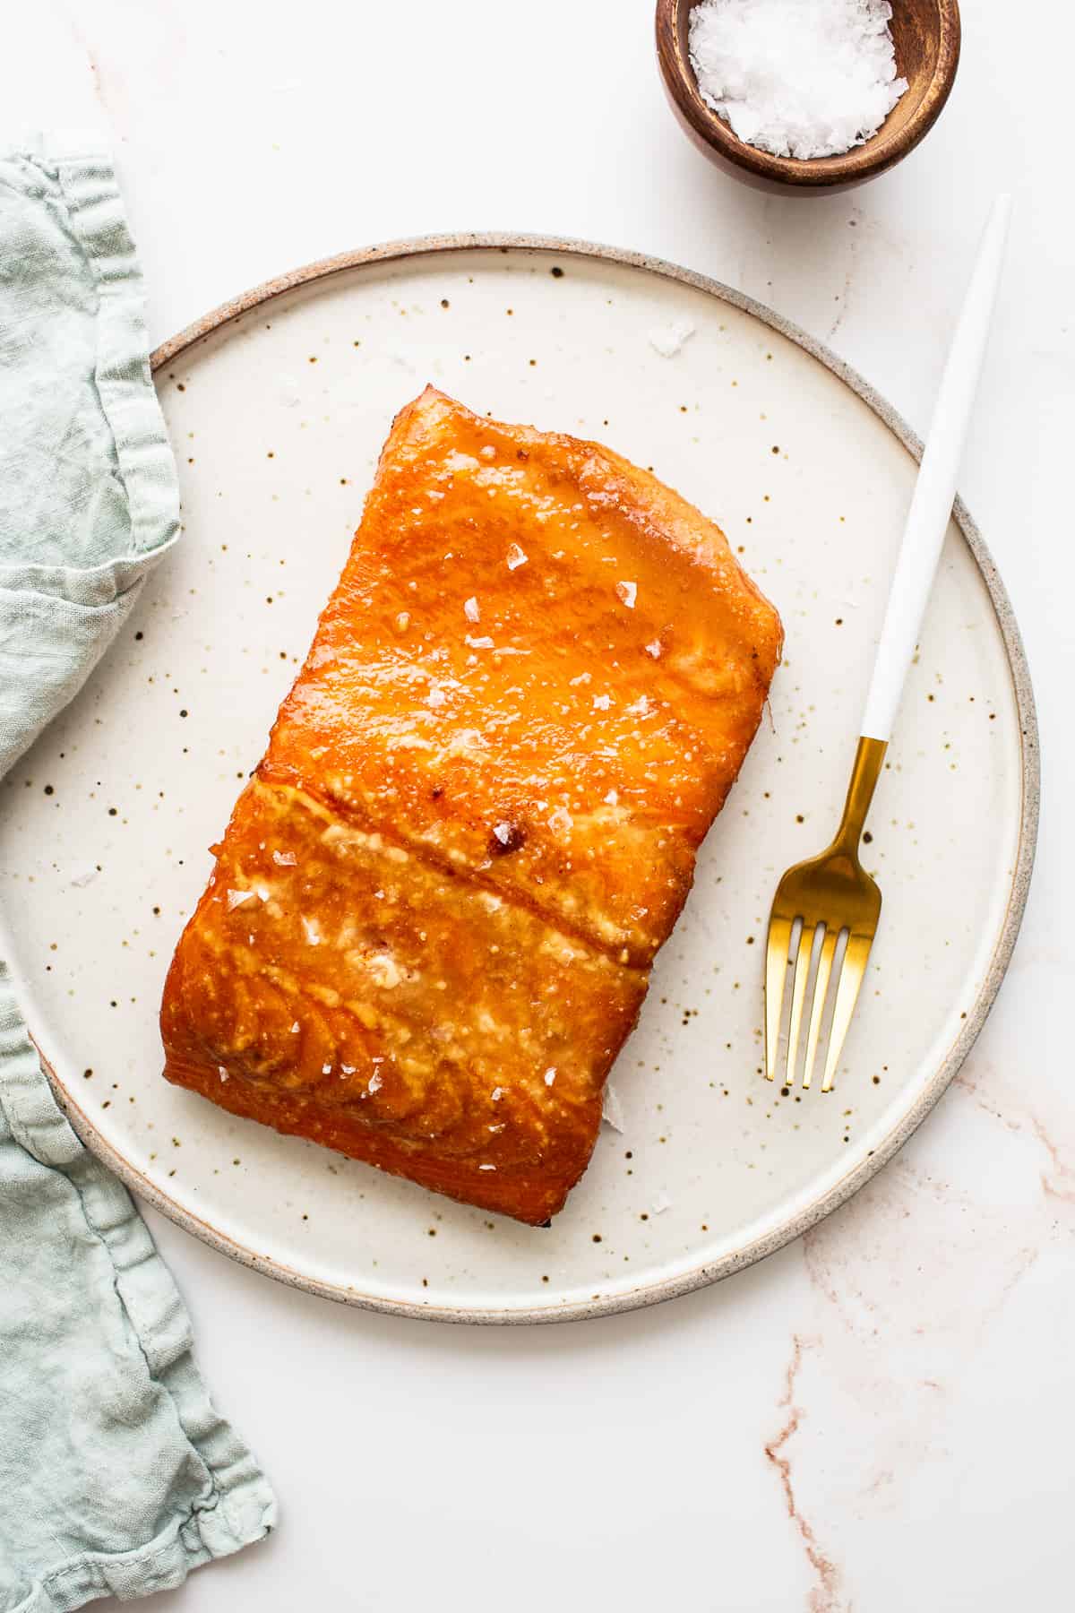
M 764 190 L 848 189 L 883 174 L 936 123 L 959 66 L 957 0 L 891 0 L 896 74 L 907 89 L 864 145 L 843 156 L 772 156 L 740 140 L 704 103 L 687 48 L 690 13 L 698 0 L 658 0 L 658 61 L 672 110 L 698 147 L 719 168 Z

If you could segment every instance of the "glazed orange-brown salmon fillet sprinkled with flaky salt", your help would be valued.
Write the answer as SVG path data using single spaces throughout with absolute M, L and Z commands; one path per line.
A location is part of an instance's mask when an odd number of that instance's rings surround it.
M 432 387 L 164 987 L 164 1074 L 542 1223 L 780 658 L 724 534 Z

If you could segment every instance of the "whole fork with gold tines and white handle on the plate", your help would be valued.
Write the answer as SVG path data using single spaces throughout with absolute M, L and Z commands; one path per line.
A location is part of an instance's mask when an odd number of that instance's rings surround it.
M 788 1087 L 795 1086 L 806 1018 L 803 1087 L 811 1086 L 822 1029 L 828 1021 L 822 1092 L 832 1090 L 877 934 L 882 894 L 859 861 L 859 842 L 956 497 L 956 474 L 993 315 L 1009 213 L 1011 198 L 998 197 L 948 353 L 896 560 L 862 737 L 836 837 L 820 857 L 788 868 L 772 902 L 766 948 L 766 1077 L 775 1081 L 780 1068 L 783 998 L 791 969 L 783 1076 Z

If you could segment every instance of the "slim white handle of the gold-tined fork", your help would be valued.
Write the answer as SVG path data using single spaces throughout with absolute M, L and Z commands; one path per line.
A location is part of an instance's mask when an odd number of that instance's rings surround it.
M 990 334 L 1011 210 L 1009 195 L 999 195 L 993 203 L 936 394 L 930 436 L 914 484 L 888 595 L 870 692 L 865 698 L 862 715 L 865 739 L 885 742 L 890 739 L 907 668 L 919 642 L 925 603 L 956 498 L 956 477 Z

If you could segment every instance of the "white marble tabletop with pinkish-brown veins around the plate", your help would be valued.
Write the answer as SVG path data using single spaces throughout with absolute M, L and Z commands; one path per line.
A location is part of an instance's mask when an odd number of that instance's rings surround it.
M 650 0 L 39 0 L 5 121 L 102 121 L 155 340 L 295 263 L 514 227 L 679 260 L 832 342 L 922 426 L 990 197 L 1015 192 L 962 487 L 1036 677 L 1038 874 L 1011 977 L 927 1126 L 803 1242 L 658 1310 L 448 1329 L 334 1308 L 153 1216 L 276 1536 L 161 1610 L 1001 1613 L 1070 1598 L 1075 1121 L 1060 939 L 1075 792 L 1067 463 L 1070 13 L 967 0 L 948 111 L 848 197 L 764 198 L 667 113 Z M 999 144 L 1002 139 L 1002 145 Z M 1065 1057 L 1067 1055 L 1067 1057 Z

